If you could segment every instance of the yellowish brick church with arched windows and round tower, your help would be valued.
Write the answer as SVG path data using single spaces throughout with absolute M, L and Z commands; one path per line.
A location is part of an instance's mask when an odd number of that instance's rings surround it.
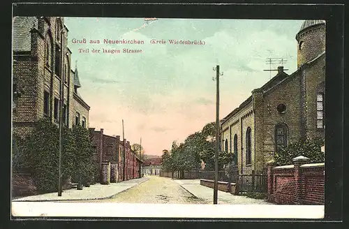
M 296 39 L 297 71 L 280 66 L 221 121 L 222 149 L 235 154 L 241 174 L 266 168 L 290 142 L 325 137 L 325 21 L 306 20 Z

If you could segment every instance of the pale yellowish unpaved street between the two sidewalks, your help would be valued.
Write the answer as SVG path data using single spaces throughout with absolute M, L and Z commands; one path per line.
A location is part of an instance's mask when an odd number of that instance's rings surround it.
M 88 202 L 123 202 L 144 204 L 207 204 L 207 201 L 188 193 L 167 177 L 147 176 L 149 180 L 105 200 Z

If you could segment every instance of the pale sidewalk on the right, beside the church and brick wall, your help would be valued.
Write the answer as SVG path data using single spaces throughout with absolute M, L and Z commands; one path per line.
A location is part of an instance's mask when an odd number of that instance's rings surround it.
M 183 189 L 186 189 L 197 198 L 202 198 L 208 203 L 213 203 L 214 189 L 200 185 L 200 179 L 174 179 Z M 244 195 L 232 195 L 218 190 L 218 204 L 228 205 L 272 205 L 266 200 L 248 198 Z

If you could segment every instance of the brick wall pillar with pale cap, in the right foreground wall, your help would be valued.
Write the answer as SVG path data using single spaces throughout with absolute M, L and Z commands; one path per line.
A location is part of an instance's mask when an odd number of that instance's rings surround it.
M 294 177 L 295 177 L 295 204 L 302 205 L 302 172 L 300 166 L 309 161 L 309 158 L 305 156 L 297 156 L 292 159 L 295 165 Z

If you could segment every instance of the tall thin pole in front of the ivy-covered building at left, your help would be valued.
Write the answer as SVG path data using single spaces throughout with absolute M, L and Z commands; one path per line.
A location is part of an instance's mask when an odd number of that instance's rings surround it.
M 60 84 L 60 94 L 61 98 L 59 101 L 59 165 L 58 165 L 58 196 L 62 195 L 62 171 L 61 171 L 61 157 L 62 157 L 62 150 L 63 150 L 63 105 L 64 105 L 64 28 L 61 29 L 61 69 L 60 69 L 60 75 L 61 75 L 61 84 Z

